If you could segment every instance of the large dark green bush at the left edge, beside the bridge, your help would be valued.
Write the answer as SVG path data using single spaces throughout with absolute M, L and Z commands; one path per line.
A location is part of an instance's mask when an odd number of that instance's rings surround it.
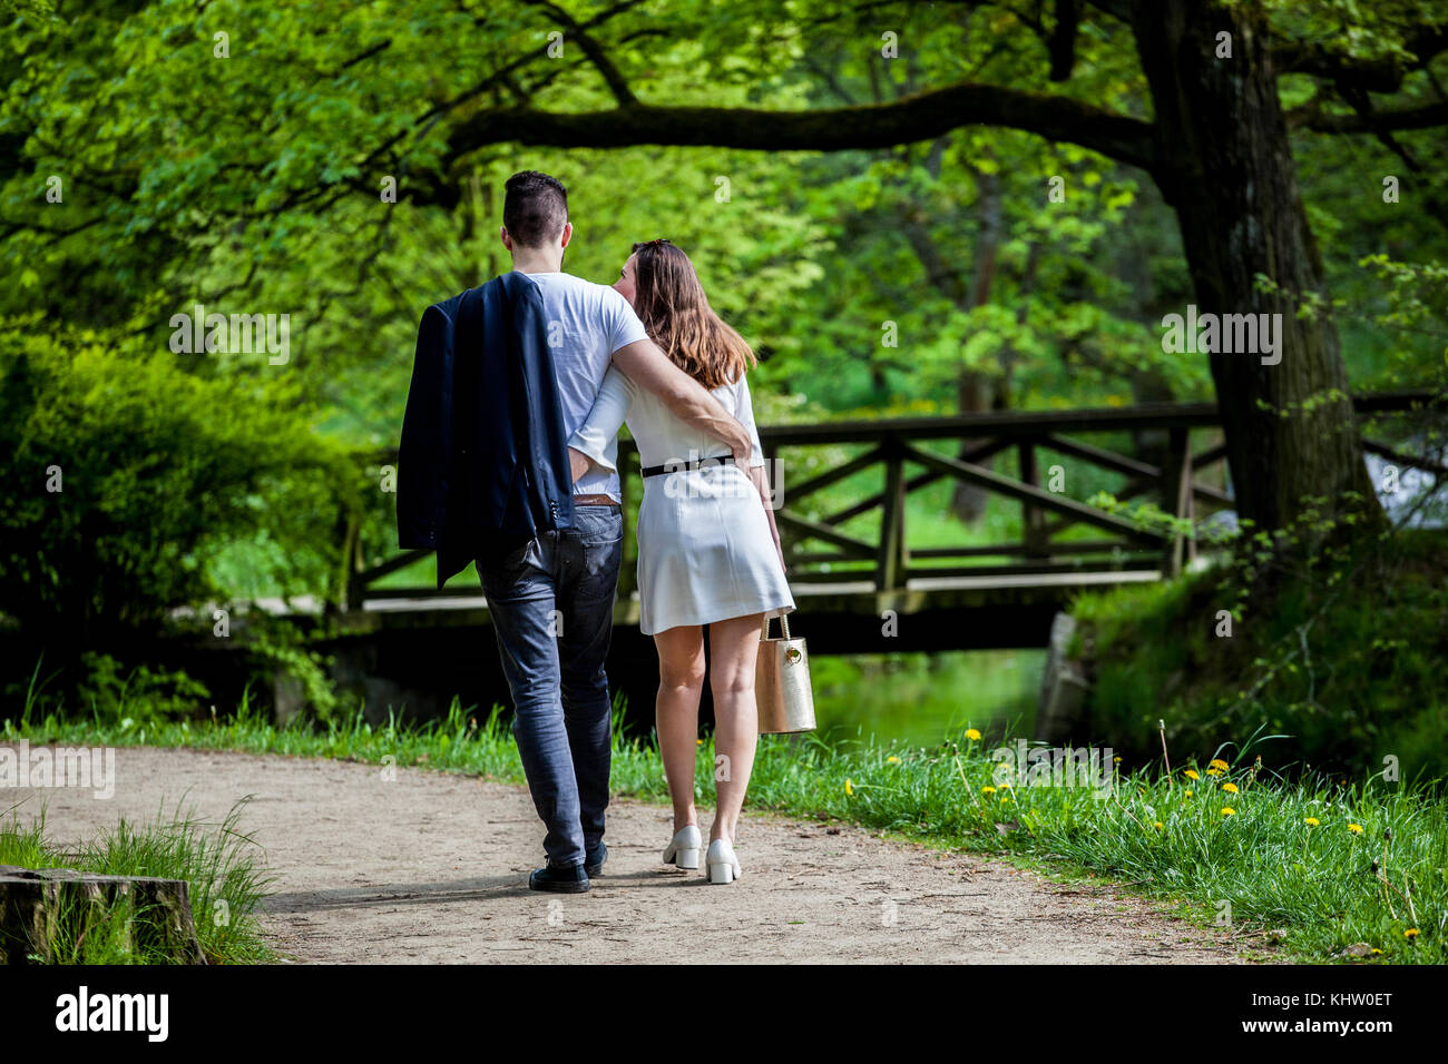
M 334 591 L 332 544 L 339 517 L 361 511 L 359 470 L 314 428 L 288 371 L 222 375 L 187 358 L 135 336 L 0 320 L 0 476 L 12 486 L 0 627 L 17 628 L 0 675 L 7 705 L 138 725 L 200 712 L 206 688 L 155 667 L 155 636 L 209 637 L 213 614 L 195 607 L 258 585 Z M 248 552 L 261 540 L 271 560 Z M 253 583 L 223 583 L 242 562 Z M 285 653 L 326 709 L 314 656 Z M 28 688 L 38 660 L 43 698 Z M 266 646 L 259 660 L 272 663 Z

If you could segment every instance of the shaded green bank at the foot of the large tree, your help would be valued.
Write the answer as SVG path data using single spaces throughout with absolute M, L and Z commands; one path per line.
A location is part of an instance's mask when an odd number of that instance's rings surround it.
M 1218 636 L 1218 611 L 1237 607 L 1225 569 L 1079 596 L 1090 735 L 1148 756 L 1164 719 L 1173 748 L 1211 757 L 1222 735 L 1266 730 L 1280 737 L 1279 766 L 1448 776 L 1442 537 L 1405 533 L 1361 552 L 1238 608 L 1231 637 Z

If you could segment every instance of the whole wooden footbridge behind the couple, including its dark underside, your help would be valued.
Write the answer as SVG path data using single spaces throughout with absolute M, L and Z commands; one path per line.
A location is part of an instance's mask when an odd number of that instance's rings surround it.
M 1393 439 L 1415 439 L 1429 418 L 1441 424 L 1441 407 L 1412 414 L 1431 404 L 1426 392 L 1367 395 L 1357 410 Z M 1080 592 L 1177 572 L 1212 549 L 1215 527 L 1232 523 L 1212 404 L 775 426 L 760 439 L 799 607 L 792 630 L 814 654 L 1044 647 L 1053 617 Z M 1442 465 L 1380 439 L 1364 447 L 1438 484 L 1448 478 Z M 392 462 L 395 453 L 378 455 L 374 469 Z M 608 676 L 628 698 L 631 727 L 647 731 L 657 659 L 633 595 L 641 479 L 631 443 L 620 444 L 620 468 L 626 543 Z M 957 485 L 975 492 L 977 521 L 951 515 Z M 1156 520 L 1095 505 L 1102 492 L 1151 504 Z M 395 706 L 436 717 L 453 695 L 463 705 L 507 699 L 471 572 L 437 591 L 427 552 L 398 553 L 391 527 L 366 543 L 356 521 L 339 520 L 337 534 L 334 592 L 321 617 L 313 609 L 295 620 L 332 657 L 339 689 L 361 698 L 374 721 Z M 219 676 L 235 667 L 232 640 L 204 643 Z M 300 688 L 278 672 L 271 701 L 284 718 Z

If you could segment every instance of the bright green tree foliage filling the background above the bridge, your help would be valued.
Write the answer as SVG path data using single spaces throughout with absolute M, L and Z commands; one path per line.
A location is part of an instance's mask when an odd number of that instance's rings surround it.
M 647 122 L 859 119 L 977 84 L 1145 129 L 1129 6 L 1073 6 L 1069 56 L 1056 7 L 7 0 L 0 609 L 78 653 L 207 599 L 334 595 L 342 514 L 363 560 L 390 556 L 418 313 L 505 268 L 500 188 L 526 166 L 572 191 L 569 269 L 608 281 L 654 236 L 689 250 L 763 356 L 762 421 L 1213 398 L 1158 327 L 1195 298 L 1197 206 L 1050 109 L 827 152 Z M 1448 159 L 1442 123 L 1402 116 L 1442 107 L 1448 6 L 1228 9 L 1261 17 L 1281 71 L 1328 290 L 1295 294 L 1302 314 L 1331 317 L 1354 388 L 1439 387 Z M 627 136 L 568 124 L 639 106 Z M 198 305 L 288 316 L 290 356 L 172 352 Z M 941 488 L 911 499 L 921 541 L 999 518 Z

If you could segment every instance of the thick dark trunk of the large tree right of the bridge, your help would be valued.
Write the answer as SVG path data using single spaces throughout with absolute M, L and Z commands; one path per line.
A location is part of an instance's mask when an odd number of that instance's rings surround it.
M 1380 517 L 1337 327 L 1297 317 L 1306 298 L 1323 292 L 1323 269 L 1297 190 L 1266 19 L 1253 3 L 1138 0 L 1132 28 L 1157 110 L 1157 182 L 1177 213 L 1197 314 L 1281 316 L 1276 365 L 1257 353 L 1211 355 L 1238 515 L 1279 528 L 1318 497 L 1323 515 Z M 1231 35 L 1229 58 L 1218 58 L 1219 33 Z M 1258 274 L 1279 291 L 1258 291 Z

